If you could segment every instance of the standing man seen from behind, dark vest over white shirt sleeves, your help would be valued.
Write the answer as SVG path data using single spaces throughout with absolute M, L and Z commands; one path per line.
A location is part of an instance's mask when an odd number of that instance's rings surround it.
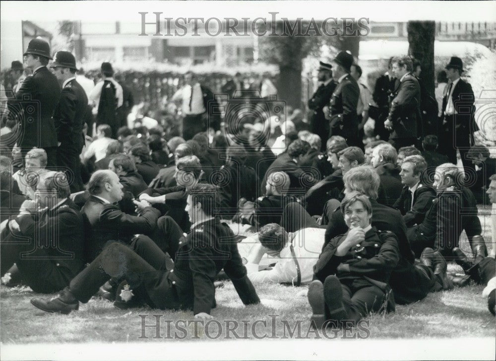
M 117 139 L 117 130 L 121 126 L 117 116 L 117 108 L 124 104 L 124 91 L 114 78 L 114 69 L 110 62 L 103 62 L 100 69 L 102 80 L 95 85 L 88 99 L 93 102 L 96 114 L 96 125 L 109 124 L 112 137 Z

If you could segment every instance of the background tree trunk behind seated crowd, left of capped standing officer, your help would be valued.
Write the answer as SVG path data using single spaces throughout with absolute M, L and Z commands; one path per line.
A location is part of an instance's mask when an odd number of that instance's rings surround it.
M 294 65 L 294 64 L 293 64 Z M 293 108 L 305 109 L 302 105 L 302 67 L 279 65 L 277 83 L 278 100 L 283 100 Z

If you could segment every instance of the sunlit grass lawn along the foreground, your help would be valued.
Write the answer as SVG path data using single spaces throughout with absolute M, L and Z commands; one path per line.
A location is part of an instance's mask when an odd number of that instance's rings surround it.
M 490 223 L 482 215 L 484 236 L 490 240 Z M 466 243 L 466 238 L 462 241 Z M 448 270 L 461 271 L 456 264 Z M 226 338 L 310 338 L 323 337 L 309 332 L 310 305 L 302 291 L 281 285 L 255 285 L 261 305 L 245 307 L 230 282 L 216 290 L 217 308 L 212 310 L 215 322 L 205 324 L 192 320 L 192 312 L 172 312 L 150 308 L 119 310 L 107 301 L 93 298 L 80 304 L 78 311 L 69 315 L 49 314 L 38 310 L 29 300 L 39 296 L 29 288 L 0 287 L 0 339 L 4 344 L 32 343 L 87 343 L 87 342 L 160 342 L 164 339 L 225 340 Z M 406 306 L 396 306 L 395 313 L 373 314 L 356 327 L 355 337 L 374 339 L 428 339 L 428 338 L 495 338 L 495 318 L 489 313 L 487 301 L 482 298 L 483 287 L 471 285 L 452 291 L 430 294 L 425 300 Z M 43 296 L 42 296 L 43 297 Z M 156 328 L 142 329 L 159 318 L 160 338 Z M 270 316 L 273 315 L 273 316 Z M 157 316 L 158 317 L 158 316 Z M 230 325 L 228 324 L 233 320 Z M 255 322 L 259 320 L 258 322 Z M 177 322 L 179 321 L 179 322 Z M 243 323 L 243 321 L 245 321 Z M 226 323 L 227 322 L 227 323 Z M 196 326 L 196 331 L 195 331 Z M 227 329 L 234 328 L 236 336 Z M 144 330 L 144 331 L 143 331 Z M 217 334 L 221 333 L 220 336 Z M 291 336 L 292 331 L 294 332 Z M 337 332 L 337 331 L 336 331 Z M 263 337 L 265 335 L 265 337 Z M 144 336 L 144 337 L 143 337 Z M 342 338 L 328 333 L 325 338 Z M 141 338 L 140 338 L 141 337 Z M 215 342 L 215 341 L 211 341 Z M 468 346 L 468 345 L 467 345 Z

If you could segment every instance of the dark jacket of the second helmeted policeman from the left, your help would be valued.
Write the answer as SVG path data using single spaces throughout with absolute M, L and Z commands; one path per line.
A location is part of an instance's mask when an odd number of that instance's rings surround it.
M 83 124 L 88 110 L 88 97 L 83 87 L 72 79 L 62 88 L 54 121 L 60 147 L 80 154 L 84 145 Z

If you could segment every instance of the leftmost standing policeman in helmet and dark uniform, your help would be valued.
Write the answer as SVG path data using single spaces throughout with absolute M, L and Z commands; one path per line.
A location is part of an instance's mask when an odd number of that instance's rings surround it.
M 48 168 L 57 166 L 58 140 L 53 116 L 61 96 L 57 78 L 47 69 L 51 59 L 50 45 L 45 40 L 29 42 L 24 64 L 33 70 L 33 75 L 26 76 L 12 101 L 20 104 L 24 112 L 20 123 L 22 135 L 17 142 L 22 158 L 33 147 L 43 148 Z

